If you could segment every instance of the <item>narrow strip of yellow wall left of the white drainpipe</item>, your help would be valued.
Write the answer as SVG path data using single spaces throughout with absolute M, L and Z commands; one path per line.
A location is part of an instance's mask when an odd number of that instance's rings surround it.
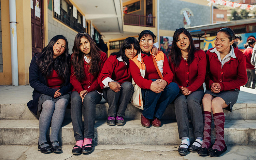
M 1 0 L 3 72 L 0 85 L 12 85 L 9 0 Z

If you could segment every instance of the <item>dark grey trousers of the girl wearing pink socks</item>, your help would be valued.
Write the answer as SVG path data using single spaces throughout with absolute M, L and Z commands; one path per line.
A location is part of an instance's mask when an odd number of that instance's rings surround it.
M 77 91 L 71 93 L 71 119 L 76 141 L 94 138 L 96 104 L 100 103 L 101 98 L 98 92 L 92 91 L 84 96 L 84 103 L 82 103 L 82 98 Z

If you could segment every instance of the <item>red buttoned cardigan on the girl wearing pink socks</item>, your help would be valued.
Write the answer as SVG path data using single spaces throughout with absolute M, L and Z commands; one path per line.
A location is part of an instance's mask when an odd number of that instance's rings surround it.
M 99 64 L 100 65 L 100 71 L 97 74 L 89 73 L 89 71 L 88 71 L 89 64 L 84 60 L 85 78 L 82 80 L 82 82 L 79 82 L 76 79 L 76 74 L 74 72 L 74 68 L 71 65 L 70 83 L 74 87 L 73 91 L 77 91 L 78 93 L 80 93 L 83 90 L 87 90 L 88 92 L 95 91 L 95 90 L 101 91 L 100 86 L 98 84 L 98 76 L 99 76 L 99 74 L 102 70 L 103 64 L 106 61 L 107 57 L 106 57 L 106 54 L 104 52 L 100 52 L 100 57 L 101 57 L 101 61 L 100 61 L 100 64 Z M 71 59 L 72 59 L 72 57 L 71 57 Z

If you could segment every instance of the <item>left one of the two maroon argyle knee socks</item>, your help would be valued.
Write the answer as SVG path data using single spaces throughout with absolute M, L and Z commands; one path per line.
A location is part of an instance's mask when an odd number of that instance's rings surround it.
M 203 111 L 203 144 L 202 148 L 209 149 L 211 147 L 211 128 L 212 128 L 212 113 Z

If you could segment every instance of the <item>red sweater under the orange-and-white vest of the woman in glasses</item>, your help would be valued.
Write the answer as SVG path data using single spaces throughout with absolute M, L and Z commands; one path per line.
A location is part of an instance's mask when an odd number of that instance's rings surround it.
M 152 55 L 148 57 L 147 55 L 141 54 L 141 57 L 146 66 L 145 77 L 143 78 L 140 73 L 140 69 L 138 66 L 130 60 L 130 70 L 131 76 L 134 82 L 143 89 L 150 89 L 151 86 L 151 79 L 160 79 L 160 76 L 157 73 L 157 70 L 154 66 L 154 62 L 152 59 Z M 168 59 L 165 55 L 165 59 L 163 60 L 163 80 L 165 80 L 168 84 L 172 82 L 173 73 L 170 69 Z

